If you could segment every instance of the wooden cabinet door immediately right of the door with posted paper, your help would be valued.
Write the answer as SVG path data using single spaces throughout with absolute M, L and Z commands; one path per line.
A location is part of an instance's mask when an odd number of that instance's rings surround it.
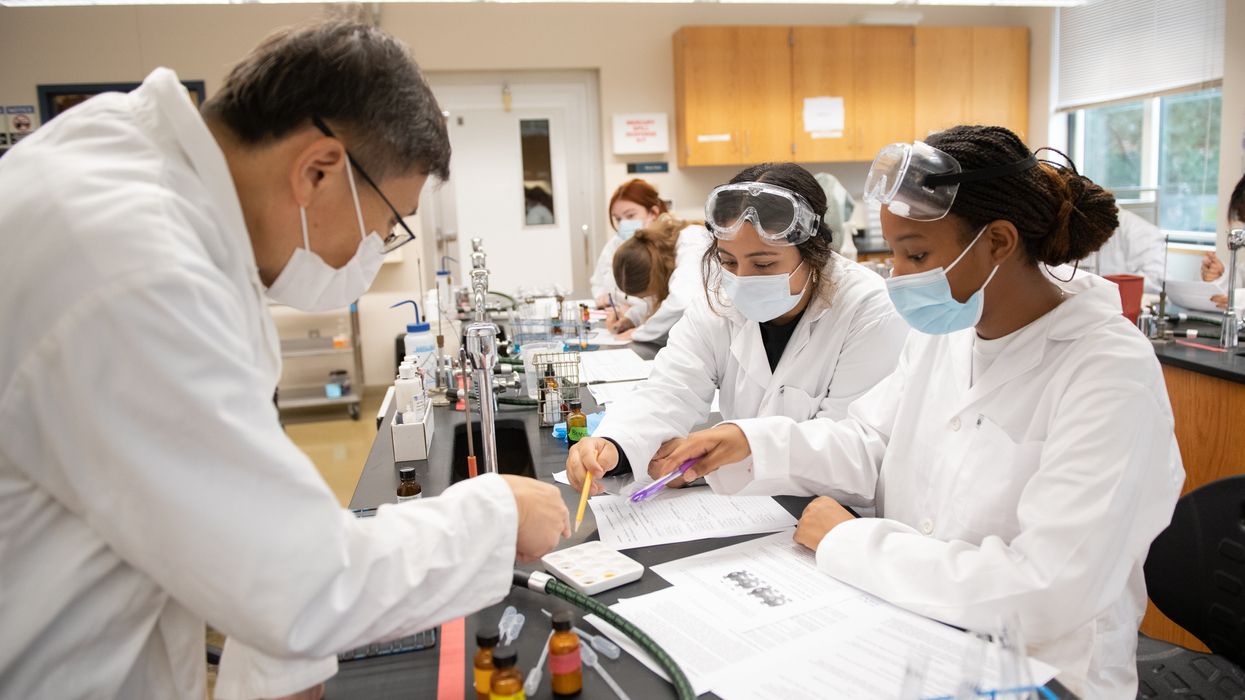
M 913 27 L 853 27 L 857 90 L 855 161 L 873 161 L 888 143 L 910 142 L 915 95 Z

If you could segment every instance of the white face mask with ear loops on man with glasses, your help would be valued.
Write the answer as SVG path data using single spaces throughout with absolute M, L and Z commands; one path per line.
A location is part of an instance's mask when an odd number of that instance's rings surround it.
M 367 291 L 376 279 L 376 273 L 385 262 L 385 242 L 376 232 L 364 229 L 364 210 L 359 206 L 359 191 L 355 188 L 355 173 L 346 162 L 350 181 L 350 196 L 355 201 L 355 215 L 359 218 L 359 249 L 342 267 L 334 268 L 324 258 L 311 252 L 308 242 L 308 213 L 299 207 L 303 222 L 303 248 L 295 248 L 290 262 L 285 263 L 273 285 L 268 288 L 268 298 L 278 304 L 294 306 L 303 311 L 331 311 L 354 304 Z

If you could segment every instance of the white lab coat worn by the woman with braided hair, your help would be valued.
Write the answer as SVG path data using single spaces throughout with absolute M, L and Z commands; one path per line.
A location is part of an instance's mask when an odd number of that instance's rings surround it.
M 964 628 L 1016 614 L 1078 696 L 1130 699 L 1142 563 L 1184 470 L 1158 360 L 1116 285 L 1062 286 L 971 387 L 975 330 L 913 333 L 847 420 L 738 421 L 751 471 L 727 466 L 716 487 L 875 498 L 880 517 L 822 541 L 822 569 Z

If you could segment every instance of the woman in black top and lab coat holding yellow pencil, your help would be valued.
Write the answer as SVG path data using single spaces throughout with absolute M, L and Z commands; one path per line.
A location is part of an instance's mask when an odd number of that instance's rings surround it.
M 619 466 L 645 477 L 708 417 L 717 390 L 727 419 L 840 419 L 894 370 L 908 326 L 884 280 L 830 249 L 824 212 L 825 193 L 793 163 L 756 166 L 713 189 L 700 294 L 651 379 L 571 448 L 573 485 Z

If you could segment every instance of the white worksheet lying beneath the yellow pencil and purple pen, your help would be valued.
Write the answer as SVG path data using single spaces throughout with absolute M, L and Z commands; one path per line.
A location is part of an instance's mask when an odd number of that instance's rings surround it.
M 621 496 L 588 499 L 601 542 L 615 549 L 793 527 L 796 518 L 768 496 L 718 496 L 708 488 L 667 490 L 632 503 Z

